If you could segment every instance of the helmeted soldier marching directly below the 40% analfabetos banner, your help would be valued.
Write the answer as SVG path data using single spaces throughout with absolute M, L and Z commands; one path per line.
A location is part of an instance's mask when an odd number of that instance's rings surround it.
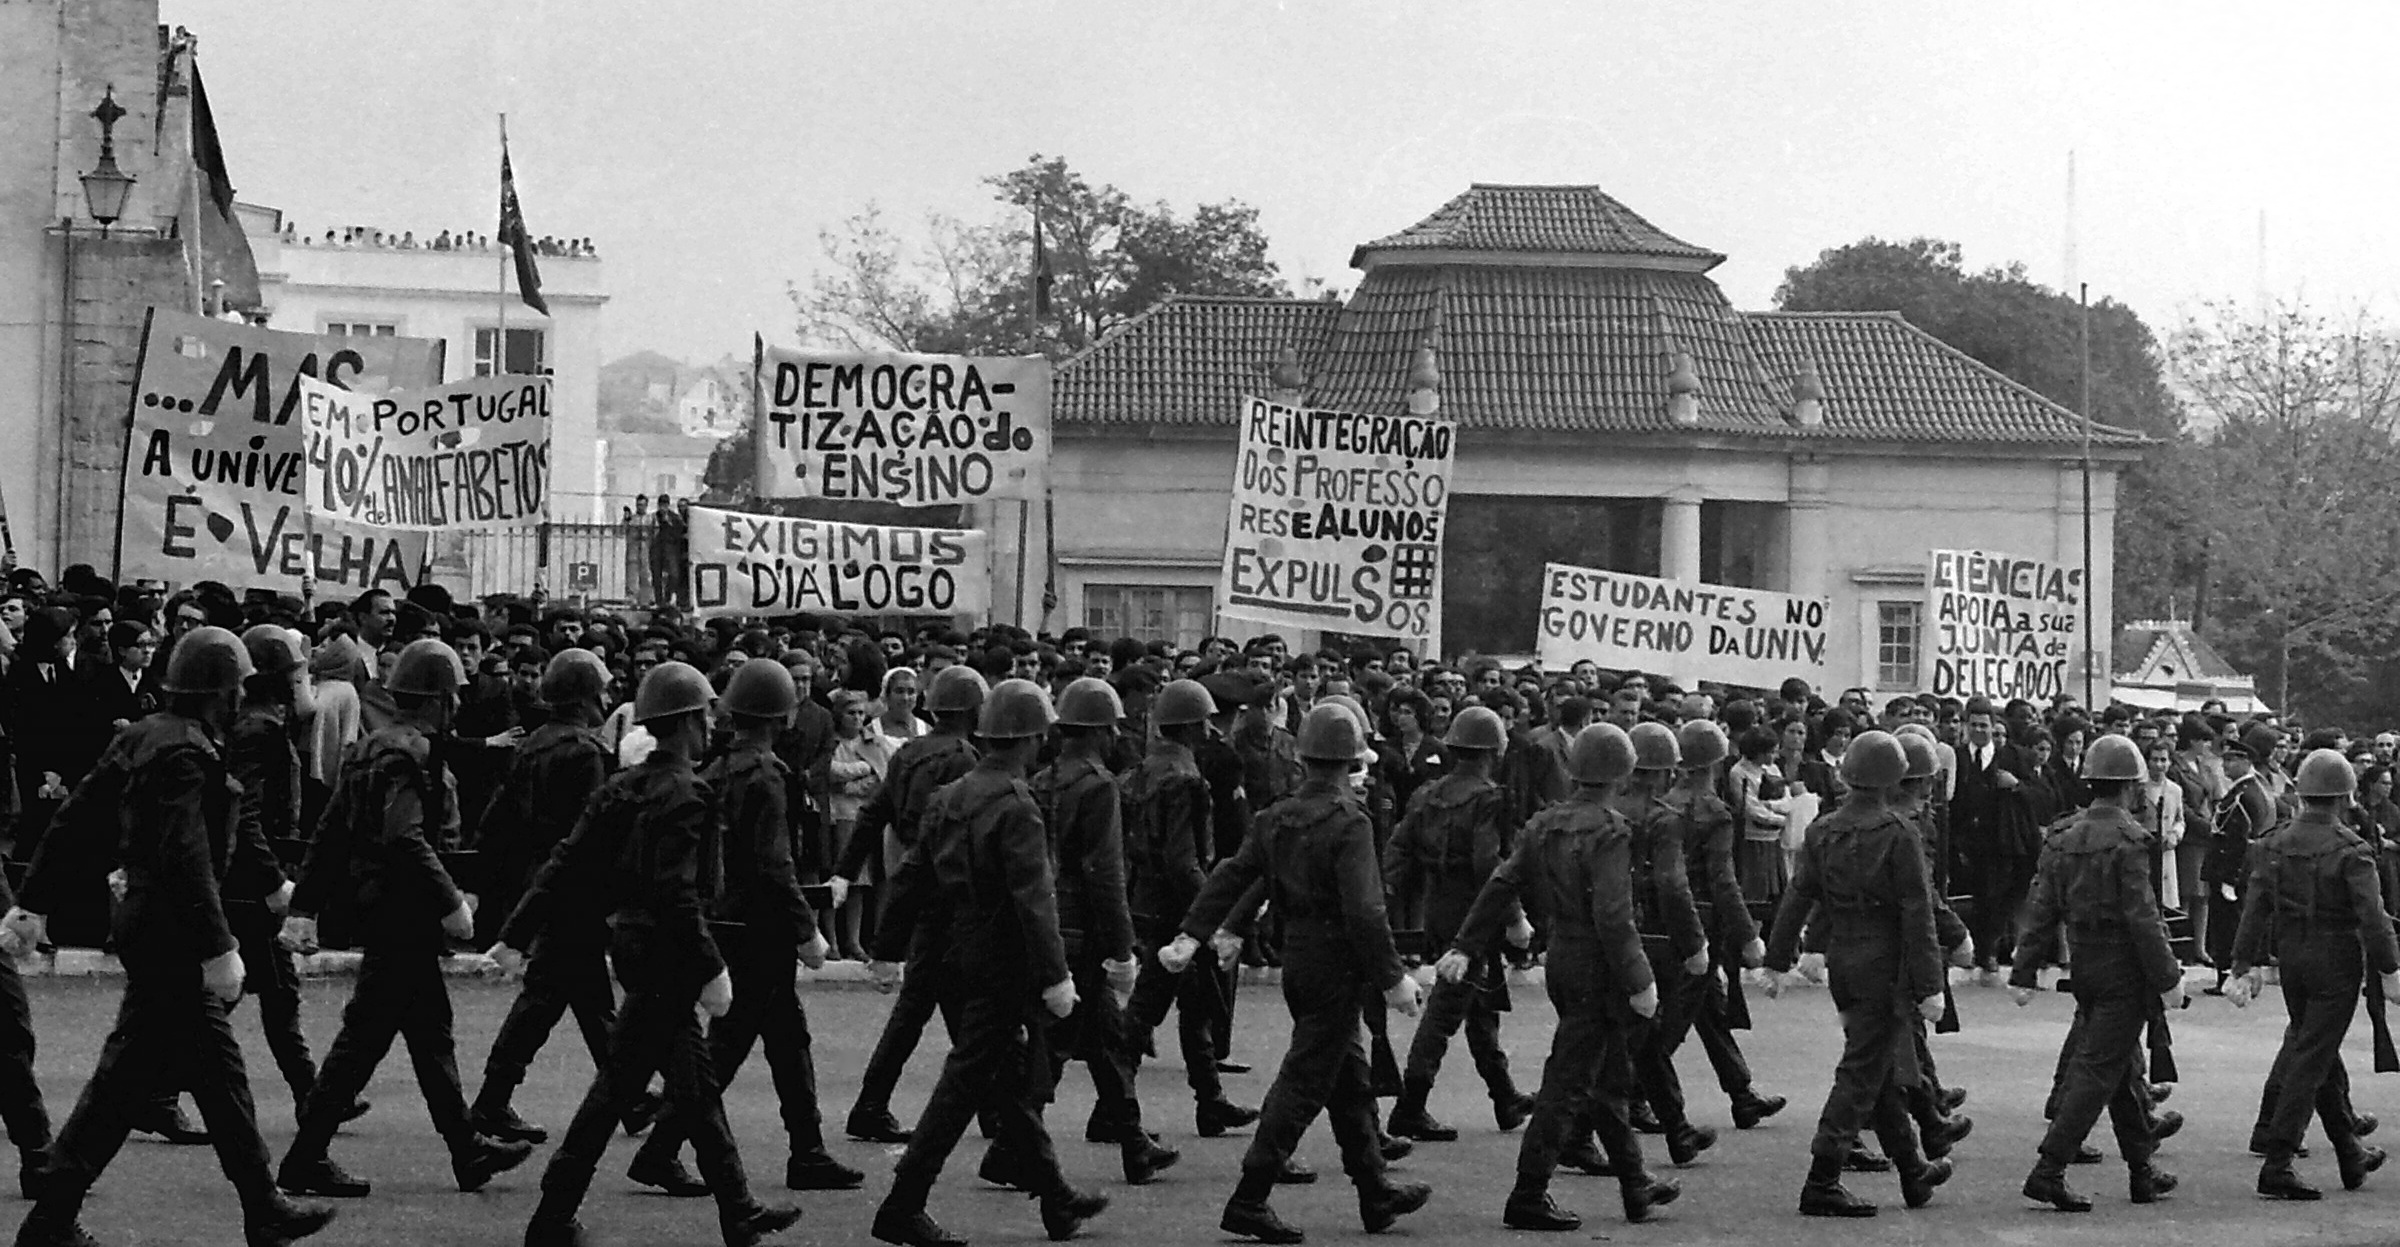
M 300 1132 L 276 1175 L 290 1194 L 355 1199 L 370 1192 L 367 1180 L 334 1163 L 326 1146 L 394 1038 L 408 1041 L 425 1110 L 449 1144 L 458 1189 L 482 1189 L 533 1156 L 533 1144 L 492 1139 L 468 1122 L 449 986 L 442 981 L 444 935 L 475 935 L 475 911 L 434 854 L 434 844 L 451 839 L 458 794 L 432 758 L 432 741 L 449 731 L 463 683 L 466 667 L 449 645 L 422 638 L 401 650 L 386 681 L 401 717 L 350 746 L 324 825 L 310 844 L 286 921 L 288 942 L 312 950 L 314 918 L 326 899 L 355 887 L 365 957 L 350 1005 L 341 1012 L 341 1031 L 300 1108 Z

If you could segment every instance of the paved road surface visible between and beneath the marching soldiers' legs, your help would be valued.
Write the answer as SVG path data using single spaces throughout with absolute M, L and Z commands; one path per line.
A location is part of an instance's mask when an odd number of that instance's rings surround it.
M 43 981 L 34 986 L 34 1012 L 41 1029 L 41 1082 L 53 1115 L 65 1115 L 82 1079 L 91 1070 L 98 1041 L 115 1010 L 110 981 Z M 348 981 L 310 986 L 310 1036 L 324 1048 L 331 1041 L 336 1012 Z M 497 986 L 456 983 L 461 1065 L 470 1091 L 480 1077 L 482 1053 L 506 1010 L 509 993 Z M 1793 1213 L 1800 1177 L 1807 1165 L 1807 1134 L 1822 1103 L 1836 1026 L 1822 990 L 1798 990 L 1783 1000 L 1752 1000 L 1759 1031 L 1747 1048 L 1759 1067 L 1759 1084 L 1793 1098 L 1783 1118 L 1752 1129 L 1723 1132 L 1716 1151 L 1699 1165 L 1680 1170 L 1685 1197 L 1651 1225 L 1630 1228 L 1615 1218 L 1615 1185 L 1586 1177 L 1560 1177 L 1558 1194 L 1586 1213 L 1586 1225 L 1553 1242 L 1656 1242 L 1711 1245 L 2122 1245 L 2122 1242 L 2203 1242 L 2203 1245 L 2366 1245 L 2400 1242 L 2400 1165 L 2378 1175 L 2359 1194 L 2342 1194 L 2333 1161 L 2318 1156 L 2304 1170 L 2333 1187 L 2323 1204 L 2268 1204 L 2251 1194 L 2254 1161 L 2244 1156 L 2249 1118 L 2256 1108 L 2258 1079 L 2275 1046 L 2280 1007 L 2254 1007 L 2237 1014 L 2222 1000 L 2201 1000 L 2177 1019 L 2177 1060 L 2184 1084 L 2170 1108 L 2191 1125 L 2167 1144 L 2162 1163 L 2184 1177 L 2184 1189 L 2155 1209 L 2131 1209 L 2124 1201 L 2124 1168 L 2114 1161 L 2076 1170 L 2076 1182 L 2100 1201 L 2088 1216 L 2064 1216 L 2030 1209 L 2016 1194 L 2033 1144 L 2040 1137 L 2040 1103 L 2050 1065 L 2064 1031 L 2069 1000 L 2042 995 L 2016 1010 L 2002 990 L 1961 988 L 1966 1034 L 1944 1036 L 1934 1050 L 1944 1074 L 1973 1091 L 1968 1113 L 1975 1137 L 1956 1158 L 1958 1177 L 1944 1187 L 1932 1209 L 1898 1209 L 1898 1182 L 1889 1175 L 1860 1177 L 1858 1189 L 1886 1201 L 1884 1216 L 1862 1223 L 1805 1221 Z M 857 1070 L 881 1026 L 886 1000 L 864 988 L 818 986 L 809 990 L 818 1036 L 818 1070 L 826 1079 L 828 1118 L 840 1125 L 857 1089 Z M 1238 1055 L 1260 1067 L 1258 1074 L 1229 1079 L 1236 1098 L 1255 1103 L 1267 1086 L 1267 1070 L 1282 1053 L 1284 1022 L 1274 988 L 1243 993 Z M 274 1079 L 264 1046 L 247 1022 L 245 1046 L 259 1091 L 259 1115 L 269 1144 L 290 1139 L 290 1096 Z M 1394 1019 L 1394 1038 L 1406 1034 Z M 1548 1043 L 1548 1005 L 1536 990 L 1519 988 L 1517 1012 L 1505 1029 L 1507 1048 L 1526 1082 L 1534 1079 Z M 2400 1079 L 2369 1077 L 2364 1024 L 2352 1036 L 2352 1074 L 2362 1108 L 2383 1113 L 2400 1129 Z M 902 1084 L 900 1110 L 912 1113 L 938 1062 L 943 1041 L 936 1034 Z M 588 1058 L 566 1029 L 526 1086 L 518 1106 L 550 1127 L 564 1125 L 576 1096 L 590 1077 Z M 1723 1098 L 1706 1077 L 1699 1053 L 1685 1060 L 1687 1086 L 1694 1089 L 1697 1115 L 1726 1122 Z M 1061 1156 L 1080 1180 L 1097 1182 L 1116 1206 L 1090 1230 L 1092 1242 L 1133 1242 L 1140 1247 L 1178 1247 L 1224 1242 L 1217 1209 L 1231 1187 L 1241 1139 L 1193 1139 L 1188 1094 L 1181 1070 L 1154 1065 L 1145 1079 L 1145 1103 L 1154 1127 L 1183 1146 L 1186 1161 L 1166 1180 L 1130 1189 L 1116 1180 L 1114 1151 L 1082 1144 L 1082 1118 L 1090 1110 L 1090 1082 L 1070 1072 L 1063 1101 L 1051 1113 L 1061 1134 Z M 502 1177 L 485 1194 L 449 1189 L 449 1165 L 432 1139 L 422 1101 L 408 1074 L 403 1053 L 394 1053 L 370 1089 L 374 1113 L 355 1122 L 336 1144 L 336 1156 L 377 1182 L 377 1194 L 355 1201 L 319 1242 L 329 1245 L 509 1245 L 518 1242 L 523 1218 L 533 1211 L 535 1175 L 542 1156 L 526 1170 Z M 1543 1242 L 1538 1235 L 1514 1235 L 1500 1228 L 1500 1201 L 1507 1194 L 1517 1139 L 1493 1132 L 1464 1050 L 1452 1058 L 1435 1110 L 1464 1127 L 1457 1144 L 1418 1146 L 1404 1173 L 1435 1185 L 1435 1201 L 1402 1223 L 1397 1242 Z M 780 1180 L 782 1139 L 773 1091 L 763 1065 L 744 1070 L 732 1094 L 734 1127 L 744 1139 L 746 1161 L 763 1194 Z M 2102 1127 L 2105 1129 L 2105 1127 Z M 2105 1134 L 2098 1139 L 2107 1146 Z M 1661 1151 L 1654 1144 L 1654 1156 Z M 869 1242 L 866 1221 L 874 1199 L 888 1185 L 883 1149 L 838 1141 L 835 1149 L 869 1170 L 869 1189 L 852 1194 L 806 1197 L 809 1218 L 785 1242 L 852 1245 Z M 624 1245 L 710 1245 L 715 1218 L 701 1201 L 670 1201 L 641 1194 L 619 1177 L 631 1144 L 619 1144 L 593 1189 L 586 1221 L 602 1230 L 605 1242 Z M 1310 1242 L 1358 1240 L 1349 1187 L 1337 1177 L 1332 1137 L 1320 1127 L 1303 1144 L 1303 1156 L 1325 1170 L 1318 1187 L 1286 1189 L 1277 1206 L 1286 1218 L 1310 1230 Z M 953 1161 L 934 1194 L 934 1211 L 950 1228 L 977 1242 L 1042 1242 L 1032 1204 L 989 1189 L 972 1177 L 979 1141 L 972 1139 Z M 1663 1156 L 1658 1158 L 1663 1163 Z M 134 1141 L 96 1192 L 86 1225 L 103 1242 L 120 1245 L 230 1245 L 240 1242 L 238 1211 L 230 1189 L 216 1175 L 204 1149 L 170 1149 Z M 0 1223 L 5 1233 L 5 1223 Z

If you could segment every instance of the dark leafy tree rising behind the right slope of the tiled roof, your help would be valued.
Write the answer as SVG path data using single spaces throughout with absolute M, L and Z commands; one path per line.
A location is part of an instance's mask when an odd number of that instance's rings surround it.
M 1788 312 L 1901 312 L 1908 324 L 1973 355 L 2035 393 L 2081 408 L 2081 307 L 2026 278 L 2023 264 L 1968 271 L 1956 242 L 1867 237 L 1783 273 Z M 2158 439 L 2117 477 L 2117 619 L 2196 604 L 2203 525 L 2194 444 L 2162 376 L 2158 338 L 2141 317 L 2102 297 L 2090 307 L 2090 415 Z

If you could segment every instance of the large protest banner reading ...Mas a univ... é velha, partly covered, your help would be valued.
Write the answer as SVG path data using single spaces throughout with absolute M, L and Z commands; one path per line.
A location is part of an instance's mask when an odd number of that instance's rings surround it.
M 425 535 L 310 520 L 300 381 L 358 393 L 442 384 L 442 343 L 278 333 L 154 307 L 142 329 L 118 578 L 235 590 L 406 590 Z

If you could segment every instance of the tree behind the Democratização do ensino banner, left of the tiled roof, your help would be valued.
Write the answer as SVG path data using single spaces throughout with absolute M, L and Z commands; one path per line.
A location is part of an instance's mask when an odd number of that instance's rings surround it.
M 984 177 L 1008 211 L 986 223 L 926 216 L 910 242 L 869 204 L 818 235 L 823 269 L 792 285 L 804 338 L 970 355 L 1073 355 L 1171 293 L 1289 295 L 1258 209 L 1226 199 L 1178 216 L 1092 185 L 1063 158 Z M 1051 309 L 1034 307 L 1034 218 Z

